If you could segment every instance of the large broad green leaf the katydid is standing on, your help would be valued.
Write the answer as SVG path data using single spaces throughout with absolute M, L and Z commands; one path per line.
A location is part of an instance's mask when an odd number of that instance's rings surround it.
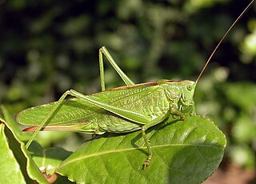
M 198 183 L 217 170 L 226 138 L 206 118 L 169 119 L 147 131 L 154 155 L 142 170 L 147 150 L 140 131 L 106 134 L 84 143 L 58 167 L 58 174 L 85 183 Z M 157 176 L 157 177 L 156 177 Z

